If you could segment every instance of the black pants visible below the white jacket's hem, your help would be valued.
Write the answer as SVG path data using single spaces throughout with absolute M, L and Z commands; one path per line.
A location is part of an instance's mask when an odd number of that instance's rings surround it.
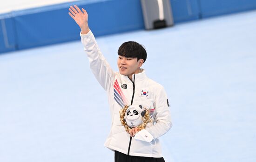
M 165 162 L 162 157 L 129 156 L 115 151 L 115 162 Z

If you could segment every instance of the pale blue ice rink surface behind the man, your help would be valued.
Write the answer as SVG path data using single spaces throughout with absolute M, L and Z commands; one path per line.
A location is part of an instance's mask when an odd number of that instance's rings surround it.
M 115 70 L 121 43 L 146 47 L 171 104 L 166 162 L 256 162 L 256 11 L 96 40 Z M 0 55 L 0 162 L 114 162 L 110 124 L 80 41 Z

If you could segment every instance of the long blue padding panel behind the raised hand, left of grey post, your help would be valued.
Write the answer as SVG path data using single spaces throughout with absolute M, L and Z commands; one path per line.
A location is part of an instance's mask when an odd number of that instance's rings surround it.
M 78 4 L 78 3 L 76 3 Z M 80 28 L 67 14 L 70 4 L 13 12 L 18 48 L 77 40 Z M 89 14 L 90 29 L 95 36 L 143 29 L 139 0 L 107 0 L 98 3 L 80 2 Z

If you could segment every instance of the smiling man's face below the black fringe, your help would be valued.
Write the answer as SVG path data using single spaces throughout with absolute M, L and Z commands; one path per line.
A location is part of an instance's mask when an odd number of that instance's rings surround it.
M 137 58 L 118 56 L 117 66 L 121 75 L 133 75 L 143 64 L 143 60 Z

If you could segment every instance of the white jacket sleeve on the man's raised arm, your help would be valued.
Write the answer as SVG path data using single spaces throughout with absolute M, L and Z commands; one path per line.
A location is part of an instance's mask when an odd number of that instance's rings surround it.
M 90 30 L 87 34 L 80 33 L 80 36 L 84 50 L 89 59 L 90 68 L 97 81 L 107 90 L 110 87 L 111 79 L 114 78 L 115 73 L 102 55 L 92 31 Z

